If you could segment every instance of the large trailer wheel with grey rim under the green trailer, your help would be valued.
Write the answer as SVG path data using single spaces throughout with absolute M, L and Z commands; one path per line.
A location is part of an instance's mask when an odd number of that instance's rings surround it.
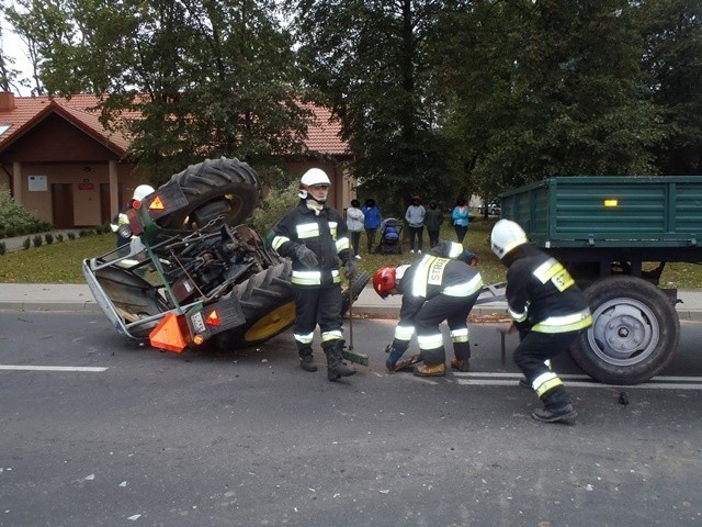
M 609 384 L 637 384 L 672 360 L 680 321 L 661 290 L 618 276 L 598 280 L 585 295 L 593 324 L 570 347 L 570 356 L 587 374 Z

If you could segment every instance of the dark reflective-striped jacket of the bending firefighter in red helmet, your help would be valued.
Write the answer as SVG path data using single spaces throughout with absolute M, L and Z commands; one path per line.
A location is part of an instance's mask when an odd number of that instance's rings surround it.
M 424 302 L 439 294 L 465 298 L 479 293 L 483 277 L 474 267 L 451 258 L 427 255 L 415 261 L 397 283 L 403 293 L 399 311 L 400 325 L 411 319 Z

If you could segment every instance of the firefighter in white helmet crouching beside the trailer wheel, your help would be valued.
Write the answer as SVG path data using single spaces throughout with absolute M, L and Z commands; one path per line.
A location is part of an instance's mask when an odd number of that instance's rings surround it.
M 551 359 L 566 351 L 592 324 L 582 291 L 555 258 L 529 244 L 522 227 L 500 220 L 490 234 L 492 251 L 507 267 L 509 332 L 519 330 L 514 362 L 543 403 L 533 417 L 574 424 L 577 412 Z

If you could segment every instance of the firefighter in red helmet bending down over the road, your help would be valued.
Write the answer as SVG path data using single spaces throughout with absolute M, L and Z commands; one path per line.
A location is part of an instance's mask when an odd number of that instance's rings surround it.
M 483 278 L 475 267 L 476 258 L 461 244 L 445 242 L 411 266 L 383 267 L 373 277 L 373 289 L 383 299 L 401 294 L 399 323 L 385 367 L 395 371 L 397 361 L 407 350 L 417 332 L 418 377 L 443 377 L 446 354 L 439 325 L 446 321 L 455 358 L 451 367 L 468 371 L 471 343 L 467 317 L 483 289 Z M 442 256 L 439 256 L 442 255 Z M 472 265 L 466 265 L 472 264 Z

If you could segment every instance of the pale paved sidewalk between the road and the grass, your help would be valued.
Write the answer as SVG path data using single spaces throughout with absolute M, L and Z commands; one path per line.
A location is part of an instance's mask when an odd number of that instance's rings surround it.
M 702 321 L 702 291 L 678 291 L 677 311 L 681 321 Z M 401 298 L 381 299 L 372 288 L 365 288 L 353 303 L 354 315 L 397 316 Z M 101 313 L 87 284 L 0 283 L 0 310 L 72 311 Z M 476 304 L 471 312 L 477 316 L 505 315 L 506 303 L 491 301 Z

